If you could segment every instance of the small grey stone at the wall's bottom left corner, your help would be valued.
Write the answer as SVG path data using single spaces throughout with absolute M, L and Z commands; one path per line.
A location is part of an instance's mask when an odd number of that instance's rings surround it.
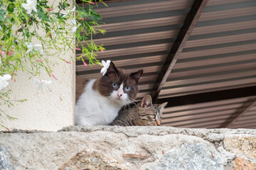
M 12 170 L 13 166 L 9 160 L 9 153 L 6 147 L 0 147 L 0 169 Z

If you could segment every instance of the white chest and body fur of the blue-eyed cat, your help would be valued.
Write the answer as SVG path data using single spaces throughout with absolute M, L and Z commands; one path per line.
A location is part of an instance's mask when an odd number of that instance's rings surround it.
M 122 107 L 92 89 L 96 80 L 90 80 L 85 86 L 75 106 L 75 125 L 108 125 L 117 117 Z

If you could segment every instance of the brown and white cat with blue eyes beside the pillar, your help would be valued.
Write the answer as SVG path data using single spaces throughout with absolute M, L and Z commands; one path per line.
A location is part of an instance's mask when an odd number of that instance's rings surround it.
M 101 79 L 77 77 L 75 125 L 108 125 L 122 106 L 132 103 L 138 93 L 143 70 L 129 73 L 117 69 L 113 62 Z

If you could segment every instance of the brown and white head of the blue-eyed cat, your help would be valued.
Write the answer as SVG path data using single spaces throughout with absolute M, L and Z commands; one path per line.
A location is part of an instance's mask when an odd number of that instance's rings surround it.
M 109 100 L 126 105 L 131 103 L 138 93 L 138 81 L 142 76 L 143 70 L 129 73 L 125 69 L 117 69 L 113 62 L 107 73 L 100 79 L 98 90 L 102 96 L 107 96 Z

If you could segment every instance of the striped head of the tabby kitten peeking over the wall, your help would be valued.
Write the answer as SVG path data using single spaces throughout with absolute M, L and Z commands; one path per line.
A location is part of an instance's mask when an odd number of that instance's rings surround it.
M 143 126 L 160 125 L 163 115 L 162 111 L 166 105 L 167 102 L 156 106 L 152 103 L 151 96 L 144 96 L 142 102 L 137 106 L 139 109 L 137 123 Z

